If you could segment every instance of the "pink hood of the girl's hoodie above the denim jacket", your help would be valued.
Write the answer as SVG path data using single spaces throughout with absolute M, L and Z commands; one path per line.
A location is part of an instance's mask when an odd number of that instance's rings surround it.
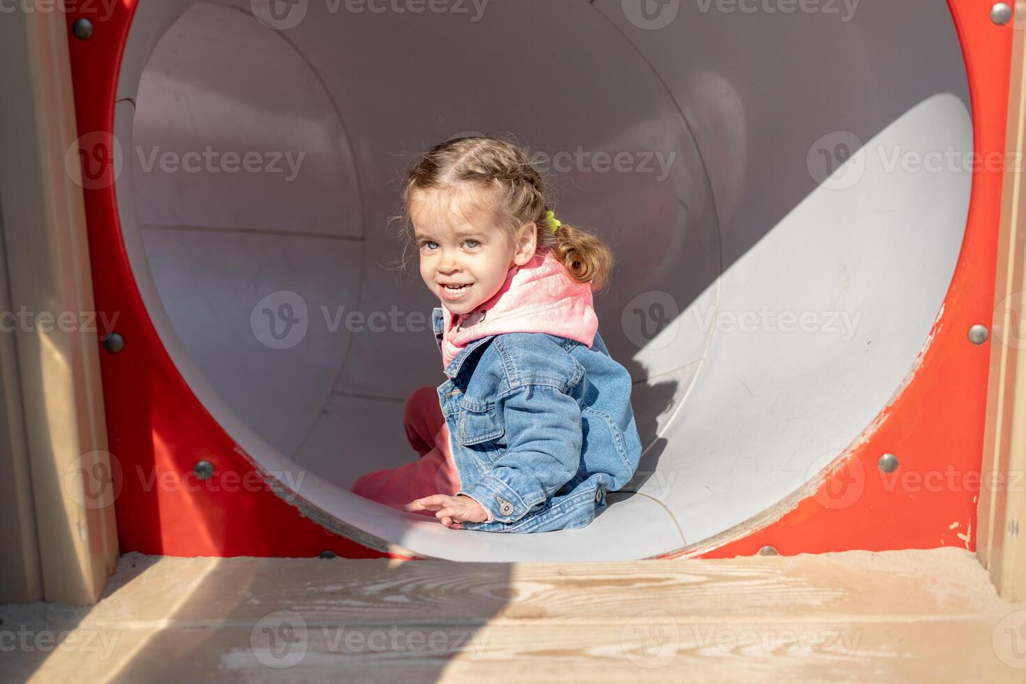
M 468 314 L 442 303 L 442 365 L 471 341 L 504 332 L 547 332 L 591 349 L 598 330 L 591 284 L 575 281 L 555 253 L 546 251 L 514 266 L 489 299 Z

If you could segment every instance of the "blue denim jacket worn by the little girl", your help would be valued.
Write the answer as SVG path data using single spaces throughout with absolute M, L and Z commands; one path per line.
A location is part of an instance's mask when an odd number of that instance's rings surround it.
M 442 345 L 442 310 L 432 324 Z M 464 529 L 584 527 L 605 492 L 634 476 L 641 440 L 631 378 L 596 332 L 586 345 L 543 332 L 494 334 L 445 367 L 438 399 L 461 489 L 491 516 Z

